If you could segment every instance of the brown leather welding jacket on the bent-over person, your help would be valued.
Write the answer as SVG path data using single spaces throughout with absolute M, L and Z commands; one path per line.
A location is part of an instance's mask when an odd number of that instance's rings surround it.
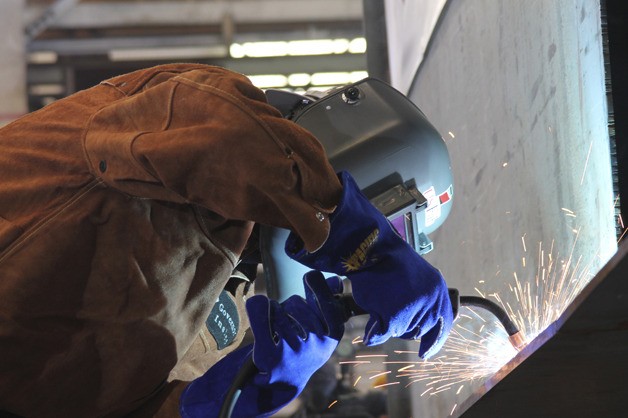
M 136 71 L 5 126 L 0 410 L 140 407 L 198 342 L 253 224 L 315 250 L 340 193 L 319 142 L 222 68 Z

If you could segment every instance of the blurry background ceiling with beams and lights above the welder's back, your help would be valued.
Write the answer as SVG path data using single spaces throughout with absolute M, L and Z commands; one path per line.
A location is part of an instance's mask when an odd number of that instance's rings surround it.
M 366 75 L 363 21 L 362 0 L 25 0 L 30 108 L 168 62 L 259 87 L 350 82 Z

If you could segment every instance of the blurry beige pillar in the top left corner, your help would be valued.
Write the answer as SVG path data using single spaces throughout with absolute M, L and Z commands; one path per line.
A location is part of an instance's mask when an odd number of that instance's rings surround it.
M 27 111 L 23 9 L 24 0 L 2 0 L 0 4 L 0 126 Z

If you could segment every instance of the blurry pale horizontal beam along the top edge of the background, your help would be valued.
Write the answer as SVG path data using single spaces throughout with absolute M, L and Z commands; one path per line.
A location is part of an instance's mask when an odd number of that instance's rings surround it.
M 29 10 L 26 14 L 31 19 L 38 15 L 37 10 Z M 221 25 L 225 16 L 230 16 L 235 24 L 361 21 L 362 0 L 79 3 L 58 16 L 50 27 L 81 29 Z

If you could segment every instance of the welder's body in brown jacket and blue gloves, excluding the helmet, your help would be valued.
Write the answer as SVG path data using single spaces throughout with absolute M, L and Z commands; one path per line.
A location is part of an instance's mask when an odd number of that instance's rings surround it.
M 252 295 L 235 271 L 255 225 L 290 231 L 304 298 Z M 267 416 L 342 337 L 342 281 L 320 271 L 351 282 L 365 344 L 444 343 L 439 271 L 242 75 L 153 67 L 0 130 L 5 414 L 216 416 L 252 356 L 232 416 Z

